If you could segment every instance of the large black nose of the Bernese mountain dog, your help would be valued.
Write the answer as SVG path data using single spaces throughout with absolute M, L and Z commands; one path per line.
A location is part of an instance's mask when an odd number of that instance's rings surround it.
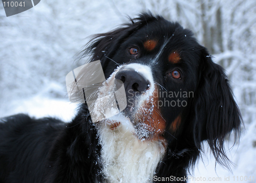
M 141 94 L 150 87 L 150 82 L 133 68 L 121 68 L 116 73 L 115 78 L 123 82 L 126 97 L 133 97 L 134 94 Z

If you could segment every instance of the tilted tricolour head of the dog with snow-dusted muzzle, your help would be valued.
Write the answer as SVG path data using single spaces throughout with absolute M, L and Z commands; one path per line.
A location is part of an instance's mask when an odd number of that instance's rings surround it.
M 101 61 L 108 78 L 105 90 L 114 87 L 115 79 L 123 82 L 127 106 L 121 115 L 138 139 L 161 141 L 172 152 L 192 149 L 195 156 L 206 140 L 217 161 L 225 162 L 224 138 L 239 132 L 240 111 L 223 68 L 191 31 L 142 14 L 131 24 L 96 35 L 88 53 L 92 61 Z M 112 122 L 111 130 L 122 123 Z

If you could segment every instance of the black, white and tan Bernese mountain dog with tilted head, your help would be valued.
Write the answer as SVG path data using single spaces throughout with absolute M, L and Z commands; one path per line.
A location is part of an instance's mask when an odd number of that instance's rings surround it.
M 239 138 L 241 113 L 223 68 L 190 30 L 143 13 L 95 35 L 87 55 L 100 60 L 101 91 L 122 81 L 125 109 L 95 123 L 87 102 L 70 123 L 3 118 L 0 182 L 186 182 L 204 141 L 228 166 L 224 141 L 232 131 Z

